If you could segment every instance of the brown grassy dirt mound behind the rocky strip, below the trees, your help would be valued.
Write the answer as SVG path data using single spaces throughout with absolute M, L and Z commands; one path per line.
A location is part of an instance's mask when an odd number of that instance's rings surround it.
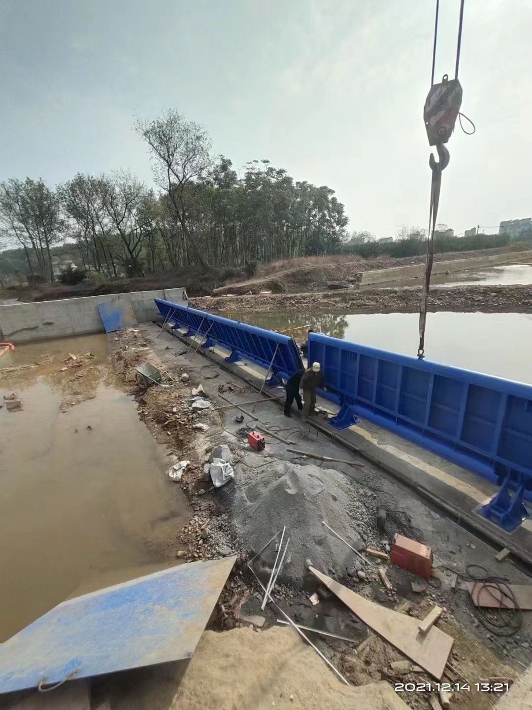
M 508 253 L 507 246 L 497 249 L 478 249 L 477 251 L 450 251 L 436 254 L 434 261 L 456 261 L 457 259 L 478 258 Z M 297 293 L 298 291 L 321 291 L 348 288 L 360 280 L 360 272 L 377 271 L 397 266 L 411 266 L 425 263 L 425 255 L 377 256 L 364 259 L 355 254 L 333 254 L 332 256 L 311 256 L 299 259 L 275 261 L 258 266 L 258 274 L 248 280 L 234 280 L 213 290 L 212 295 L 244 295 L 250 291 L 258 294 L 262 291 L 273 293 Z

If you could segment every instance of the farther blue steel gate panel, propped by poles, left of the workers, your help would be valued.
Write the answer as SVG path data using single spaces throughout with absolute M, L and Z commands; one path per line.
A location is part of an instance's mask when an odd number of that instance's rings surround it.
M 226 358 L 227 362 L 237 362 L 245 357 L 267 368 L 275 354 L 272 383 L 275 378 L 289 378 L 303 367 L 297 345 L 288 335 L 212 315 L 161 298 L 154 300 L 160 314 L 168 322 L 173 322 L 175 328 L 187 328 L 185 335 L 191 336 L 196 333 L 205 335 L 207 340 L 202 347 L 206 348 L 218 343 L 231 350 L 231 355 Z

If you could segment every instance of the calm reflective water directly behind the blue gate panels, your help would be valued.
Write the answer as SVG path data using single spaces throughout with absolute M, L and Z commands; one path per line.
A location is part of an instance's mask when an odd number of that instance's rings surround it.
M 225 313 L 229 318 L 270 330 L 287 330 L 299 343 L 305 328 L 355 343 L 416 356 L 416 313 L 311 315 Z M 428 360 L 532 384 L 532 315 L 523 313 L 428 313 Z

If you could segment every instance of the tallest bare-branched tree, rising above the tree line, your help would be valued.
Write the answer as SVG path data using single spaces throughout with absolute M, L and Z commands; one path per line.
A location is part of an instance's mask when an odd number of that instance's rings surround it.
M 174 109 L 168 109 L 155 121 L 137 119 L 135 129 L 155 158 L 155 180 L 170 198 L 192 260 L 206 266 L 201 244 L 192 234 L 189 212 L 191 198 L 194 200 L 194 182 L 204 178 L 212 165 L 209 135 L 202 126 L 186 121 Z

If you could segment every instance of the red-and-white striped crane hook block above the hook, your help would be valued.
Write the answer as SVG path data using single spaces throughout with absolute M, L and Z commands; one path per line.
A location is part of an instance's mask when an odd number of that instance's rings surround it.
M 427 129 L 429 146 L 447 143 L 455 130 L 456 119 L 462 105 L 462 87 L 458 79 L 449 81 L 443 75 L 441 84 L 433 84 L 427 94 L 423 119 Z

